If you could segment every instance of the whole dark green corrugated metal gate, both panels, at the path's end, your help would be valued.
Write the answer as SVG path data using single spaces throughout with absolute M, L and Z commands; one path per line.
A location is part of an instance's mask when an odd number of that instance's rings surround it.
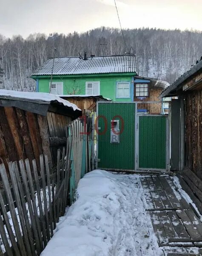
M 97 168 L 169 171 L 168 115 L 139 114 L 139 102 L 97 103 Z M 111 121 L 118 120 L 119 143 L 111 142 Z

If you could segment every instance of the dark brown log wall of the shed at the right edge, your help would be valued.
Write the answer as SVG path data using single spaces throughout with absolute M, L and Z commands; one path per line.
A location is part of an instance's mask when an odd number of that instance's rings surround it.
M 185 94 L 185 165 L 202 179 L 202 91 Z

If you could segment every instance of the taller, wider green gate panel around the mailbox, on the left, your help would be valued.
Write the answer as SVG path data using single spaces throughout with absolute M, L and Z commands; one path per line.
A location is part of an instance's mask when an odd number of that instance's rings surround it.
M 134 170 L 134 124 L 135 104 L 131 103 L 99 103 L 98 114 L 105 116 L 107 131 L 98 136 L 98 168 L 130 169 Z M 114 116 L 122 116 L 124 129 L 120 134 L 120 143 L 110 143 L 111 120 Z M 116 118 L 119 119 L 119 118 Z M 120 120 L 120 119 L 119 119 Z M 120 129 L 121 129 L 121 121 Z M 99 132 L 105 129 L 102 118 L 98 119 Z

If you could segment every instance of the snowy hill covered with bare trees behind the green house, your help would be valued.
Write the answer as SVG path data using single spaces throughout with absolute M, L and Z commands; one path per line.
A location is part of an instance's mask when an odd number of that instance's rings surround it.
M 97 28 L 78 34 L 49 36 L 43 34 L 4 38 L 0 35 L 0 66 L 5 75 L 1 88 L 12 90 L 35 90 L 30 79 L 47 58 L 56 56 L 78 56 L 84 51 L 88 55 L 123 54 L 133 47 L 137 54 L 139 75 L 173 82 L 191 68 L 202 55 L 202 32 L 128 29 L 123 31 L 126 45 L 119 29 Z

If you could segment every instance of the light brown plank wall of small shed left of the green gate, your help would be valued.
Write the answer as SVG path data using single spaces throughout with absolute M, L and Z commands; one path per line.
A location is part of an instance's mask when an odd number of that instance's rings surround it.
M 96 98 L 82 98 L 82 97 L 63 97 L 63 99 L 68 100 L 68 102 L 74 103 L 78 108 L 82 110 L 82 114 L 84 114 L 84 110 L 88 109 L 90 111 L 96 111 Z

